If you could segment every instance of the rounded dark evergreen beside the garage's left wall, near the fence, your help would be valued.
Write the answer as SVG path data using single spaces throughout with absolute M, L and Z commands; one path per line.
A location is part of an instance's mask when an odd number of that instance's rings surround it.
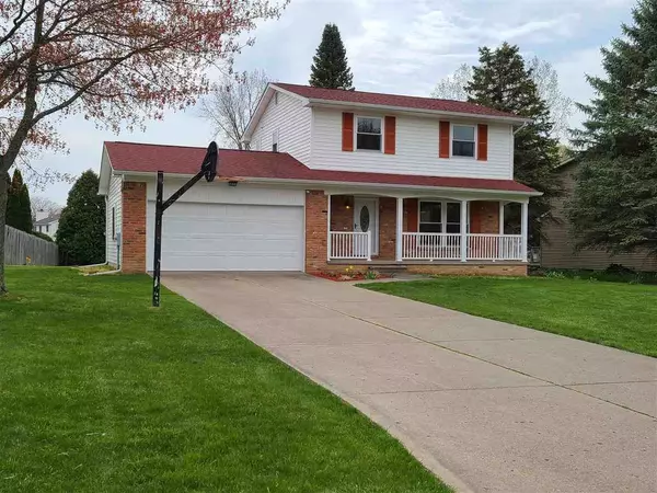
M 105 261 L 105 200 L 99 195 L 99 176 L 85 171 L 73 184 L 61 211 L 57 244 L 66 264 Z

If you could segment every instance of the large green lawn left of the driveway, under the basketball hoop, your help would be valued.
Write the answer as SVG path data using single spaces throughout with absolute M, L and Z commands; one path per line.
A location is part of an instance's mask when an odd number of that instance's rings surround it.
M 8 270 L 2 492 L 447 492 L 359 412 L 146 276 Z M 217 296 L 221 296 L 220 293 Z

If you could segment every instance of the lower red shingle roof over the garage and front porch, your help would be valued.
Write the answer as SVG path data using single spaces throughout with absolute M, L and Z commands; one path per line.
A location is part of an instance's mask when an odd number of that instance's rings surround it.
M 196 174 L 206 149 L 134 142 L 105 142 L 112 168 L 116 171 Z M 286 152 L 219 149 L 217 175 L 223 179 L 277 179 L 318 182 L 372 183 L 426 187 L 474 188 L 506 192 L 533 192 L 512 180 L 486 180 L 412 174 L 362 173 L 311 170 Z

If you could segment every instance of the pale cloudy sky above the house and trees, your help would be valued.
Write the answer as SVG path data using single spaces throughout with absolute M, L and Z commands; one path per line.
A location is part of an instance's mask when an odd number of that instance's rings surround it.
M 553 65 L 562 91 L 586 103 L 585 74 L 602 74 L 600 47 L 630 22 L 634 0 L 291 0 L 277 20 L 251 33 L 254 46 L 238 56 L 238 70 L 264 69 L 272 80 L 308 83 L 312 56 L 326 23 L 337 24 L 358 90 L 428 96 L 461 64 L 476 64 L 477 47 L 517 44 L 523 55 Z M 576 127 L 581 115 L 575 113 Z M 166 113 L 146 131 L 119 135 L 73 116 L 58 123 L 67 153 L 44 153 L 35 170 L 77 175 L 100 170 L 104 140 L 206 147 L 215 137 L 197 107 Z M 66 204 L 70 183 L 33 190 Z

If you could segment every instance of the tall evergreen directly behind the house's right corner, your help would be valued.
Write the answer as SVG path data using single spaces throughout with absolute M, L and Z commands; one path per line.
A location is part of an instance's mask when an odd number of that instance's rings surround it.
M 471 103 L 532 119 L 516 133 L 514 171 L 517 181 L 543 193 L 529 203 L 529 244 L 537 245 L 541 223 L 554 220 L 551 199 L 561 194 L 562 187 L 555 173 L 560 150 L 557 139 L 552 137 L 554 123 L 548 104 L 539 96 L 532 70 L 527 68 L 518 46 L 504 43 L 494 50 L 483 47 L 480 65 L 473 67 L 473 78 L 465 90 Z M 519 207 L 510 207 L 505 219 L 509 227 L 519 225 Z

